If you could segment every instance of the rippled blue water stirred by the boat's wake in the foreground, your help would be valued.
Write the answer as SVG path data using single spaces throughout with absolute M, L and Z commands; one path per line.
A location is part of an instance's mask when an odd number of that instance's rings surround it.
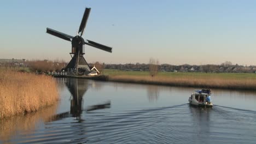
M 61 113 L 16 143 L 254 143 L 255 111 L 188 104 L 115 113 Z

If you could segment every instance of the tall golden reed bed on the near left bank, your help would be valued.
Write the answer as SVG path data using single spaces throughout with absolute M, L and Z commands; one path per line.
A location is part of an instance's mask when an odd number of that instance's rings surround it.
M 57 99 L 52 77 L 0 69 L 0 118 L 37 111 Z

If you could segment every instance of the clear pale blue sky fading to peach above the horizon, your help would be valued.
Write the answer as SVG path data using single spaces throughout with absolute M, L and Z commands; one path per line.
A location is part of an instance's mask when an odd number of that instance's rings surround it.
M 84 39 L 89 63 L 256 65 L 256 1 L 1 1 L 0 58 L 69 62 L 71 42 L 46 27 L 76 35 L 85 7 L 91 13 Z

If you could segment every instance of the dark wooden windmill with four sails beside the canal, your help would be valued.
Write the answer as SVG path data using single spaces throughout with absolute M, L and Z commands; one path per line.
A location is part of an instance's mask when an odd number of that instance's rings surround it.
M 101 49 L 103 51 L 112 52 L 112 47 L 108 47 L 91 40 L 85 41 L 82 38 L 90 11 L 91 11 L 91 8 L 85 8 L 84 16 L 80 23 L 79 31 L 77 32 L 77 35 L 75 35 L 74 37 L 65 33 L 55 31 L 54 29 L 51 29 L 51 28 L 46 28 L 46 33 L 49 33 L 51 35 L 54 35 L 55 37 L 59 37 L 64 40 L 71 41 L 72 49 L 71 49 L 71 53 L 69 54 L 71 55 L 72 59 L 67 64 L 65 71 L 70 70 L 76 73 L 78 73 L 79 71 L 82 71 L 83 73 L 84 72 L 89 73 L 91 71 L 88 63 L 85 61 L 85 58 L 83 56 L 85 54 L 85 51 L 84 51 L 85 45 L 96 47 L 97 49 Z

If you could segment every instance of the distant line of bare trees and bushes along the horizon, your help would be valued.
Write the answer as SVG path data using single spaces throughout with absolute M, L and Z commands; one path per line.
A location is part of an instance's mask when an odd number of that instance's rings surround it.
M 153 59 L 154 60 L 154 59 Z M 63 60 L 33 60 L 26 62 L 0 63 L 0 66 L 5 67 L 28 67 L 31 71 L 37 73 L 48 73 L 48 71 L 61 71 L 66 67 L 68 62 Z M 128 64 L 105 64 L 100 62 L 89 63 L 90 67 L 96 67 L 99 71 L 103 69 L 118 69 L 118 70 L 133 70 L 133 71 L 173 71 L 173 72 L 203 72 L 203 73 L 256 73 L 256 66 L 244 66 L 238 64 L 232 64 L 226 61 L 222 64 L 205 64 L 205 65 L 172 65 L 172 64 L 159 64 L 156 60 L 155 64 L 149 61 L 145 63 L 128 63 Z M 152 67 L 154 66 L 154 67 Z

